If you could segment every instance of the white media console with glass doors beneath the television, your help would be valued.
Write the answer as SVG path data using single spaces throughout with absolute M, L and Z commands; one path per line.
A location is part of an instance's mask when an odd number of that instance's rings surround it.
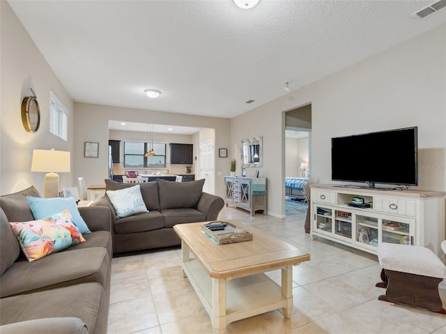
M 349 206 L 361 197 L 369 207 Z M 378 243 L 406 243 L 433 250 L 445 236 L 446 192 L 311 186 L 311 235 L 376 254 Z

